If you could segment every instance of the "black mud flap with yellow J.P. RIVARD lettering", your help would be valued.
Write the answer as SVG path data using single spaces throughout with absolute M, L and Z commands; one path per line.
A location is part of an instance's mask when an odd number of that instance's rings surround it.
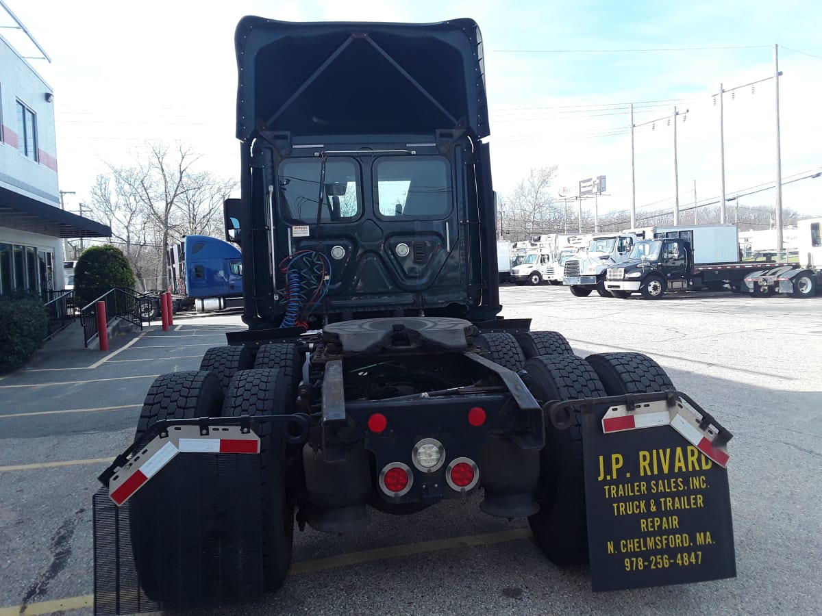
M 582 415 L 592 590 L 736 577 L 727 471 L 670 425 L 599 417 Z

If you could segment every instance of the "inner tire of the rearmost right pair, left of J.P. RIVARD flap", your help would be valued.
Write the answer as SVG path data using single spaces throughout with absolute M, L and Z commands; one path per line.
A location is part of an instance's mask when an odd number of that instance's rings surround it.
M 605 395 L 596 372 L 575 355 L 532 357 L 525 362 L 529 388 L 539 402 Z M 528 518 L 537 545 L 561 567 L 588 562 L 583 437 L 580 425 L 557 430 L 546 418 L 539 453 L 538 513 Z

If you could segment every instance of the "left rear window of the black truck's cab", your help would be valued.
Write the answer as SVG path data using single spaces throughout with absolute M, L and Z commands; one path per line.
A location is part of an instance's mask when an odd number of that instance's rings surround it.
M 289 159 L 279 165 L 280 211 L 301 223 L 316 223 L 320 196 L 321 161 Z M 362 212 L 359 174 L 350 159 L 326 160 L 326 190 L 320 208 L 321 222 L 349 221 Z

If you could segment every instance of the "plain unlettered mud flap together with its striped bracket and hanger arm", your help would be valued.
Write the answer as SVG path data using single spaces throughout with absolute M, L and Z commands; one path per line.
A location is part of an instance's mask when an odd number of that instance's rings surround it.
M 275 422 L 289 444 L 307 438 L 302 414 L 158 421 L 99 476 L 95 614 L 229 605 L 263 593 L 261 421 Z

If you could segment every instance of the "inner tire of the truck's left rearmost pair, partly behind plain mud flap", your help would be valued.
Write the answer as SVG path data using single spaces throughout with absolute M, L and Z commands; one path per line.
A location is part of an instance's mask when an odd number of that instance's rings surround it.
M 240 370 L 229 385 L 224 417 L 282 415 L 291 411 L 289 379 L 283 370 Z M 266 591 L 283 585 L 291 566 L 294 501 L 288 494 L 284 439 L 269 422 L 260 424 L 262 567 Z

